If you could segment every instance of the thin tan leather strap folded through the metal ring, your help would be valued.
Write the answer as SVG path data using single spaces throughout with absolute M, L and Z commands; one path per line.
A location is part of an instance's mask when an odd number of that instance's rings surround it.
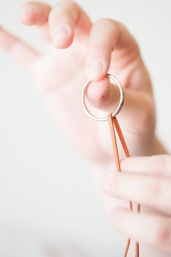
M 115 129 L 116 129 L 117 134 L 119 136 L 119 139 L 121 141 L 121 144 L 122 144 L 123 150 L 125 152 L 125 155 L 127 157 L 131 157 L 131 155 L 130 155 L 129 150 L 127 148 L 127 144 L 126 144 L 125 139 L 123 137 L 121 128 L 120 128 L 119 123 L 117 121 L 117 118 L 112 117 L 112 113 L 111 113 L 111 114 L 107 115 L 107 119 L 108 119 L 110 133 L 111 133 L 111 139 L 112 139 L 112 146 L 113 146 L 113 153 L 114 153 L 114 157 L 115 157 L 116 168 L 117 168 L 117 171 L 121 171 L 120 162 L 119 162 L 119 154 L 118 154 L 118 149 L 117 149 L 116 136 L 115 136 Z M 115 128 L 114 128 L 114 126 L 115 126 Z M 130 210 L 132 211 L 133 207 L 132 207 L 132 202 L 131 201 L 129 202 L 129 205 L 130 205 Z M 139 212 L 140 212 L 140 204 L 138 204 L 138 213 Z M 127 256 L 130 241 L 131 241 L 131 239 L 128 238 L 127 246 L 125 248 L 124 257 Z M 136 242 L 135 252 L 136 252 L 135 257 L 139 257 L 139 243 L 138 242 Z

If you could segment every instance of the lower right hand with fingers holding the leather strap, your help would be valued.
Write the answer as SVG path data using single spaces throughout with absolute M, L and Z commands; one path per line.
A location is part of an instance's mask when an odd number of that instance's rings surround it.
M 111 211 L 111 222 L 121 233 L 171 253 L 171 156 L 132 157 L 108 168 L 100 187 L 106 195 L 141 203 L 158 214 L 131 212 L 125 208 Z M 137 171 L 139 173 L 137 173 Z

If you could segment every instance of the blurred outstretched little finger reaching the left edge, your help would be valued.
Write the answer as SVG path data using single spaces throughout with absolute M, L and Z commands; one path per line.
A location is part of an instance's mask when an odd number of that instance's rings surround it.
M 0 48 L 27 70 L 30 69 L 31 64 L 39 57 L 36 51 L 2 28 L 0 28 Z

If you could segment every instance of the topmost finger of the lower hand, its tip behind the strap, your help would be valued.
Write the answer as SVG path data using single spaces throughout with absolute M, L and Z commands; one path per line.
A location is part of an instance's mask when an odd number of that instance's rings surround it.
M 171 156 L 168 154 L 123 158 L 120 160 L 120 165 L 121 170 L 124 172 L 139 172 L 155 176 L 171 176 Z M 107 171 L 116 171 L 115 163 L 112 163 Z

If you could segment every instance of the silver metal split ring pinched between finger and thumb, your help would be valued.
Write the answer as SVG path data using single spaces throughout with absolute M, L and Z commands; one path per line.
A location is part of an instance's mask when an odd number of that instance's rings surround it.
M 119 101 L 119 105 L 117 107 L 117 109 L 114 111 L 114 113 L 112 113 L 112 117 L 116 116 L 122 109 L 122 106 L 123 106 L 123 102 L 124 102 L 124 90 L 123 90 L 123 86 L 121 84 L 121 82 L 116 78 L 114 77 L 113 75 L 107 73 L 106 77 L 109 77 L 111 79 L 113 79 L 118 87 L 119 87 L 119 90 L 120 90 L 120 101 Z M 87 86 L 91 83 L 92 80 L 88 79 L 87 82 L 85 83 L 84 87 L 83 87 L 83 90 L 82 90 L 82 95 L 81 95 L 81 102 L 82 102 L 82 107 L 85 111 L 85 113 L 93 120 L 95 121 L 107 121 L 107 117 L 105 118 L 97 118 L 95 116 L 93 116 L 88 110 L 87 110 L 87 107 L 86 107 L 86 103 L 85 103 L 85 97 L 84 97 L 84 93 L 86 92 L 86 89 L 87 89 Z

